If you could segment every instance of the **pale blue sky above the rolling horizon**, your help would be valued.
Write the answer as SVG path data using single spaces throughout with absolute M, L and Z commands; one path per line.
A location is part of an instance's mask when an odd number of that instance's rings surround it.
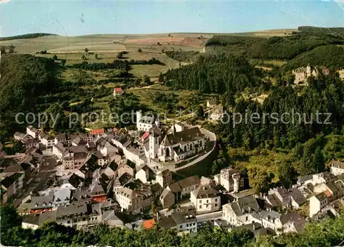
M 344 27 L 344 0 L 0 0 L 0 36 L 152 34 Z

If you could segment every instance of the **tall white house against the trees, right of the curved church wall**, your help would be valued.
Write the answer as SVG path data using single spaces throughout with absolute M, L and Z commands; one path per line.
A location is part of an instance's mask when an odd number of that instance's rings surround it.
M 240 171 L 230 167 L 222 169 L 219 174 L 214 175 L 216 184 L 224 186 L 226 191 L 238 192 L 244 186 L 244 180 L 240 176 Z

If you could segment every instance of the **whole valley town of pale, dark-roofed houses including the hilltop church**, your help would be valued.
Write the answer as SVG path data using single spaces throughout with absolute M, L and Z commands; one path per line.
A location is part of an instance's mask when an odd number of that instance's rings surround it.
M 16 133 L 28 149 L 1 173 L 3 202 L 30 184 L 48 152 L 58 167 L 51 186 L 21 201 L 23 227 L 37 228 L 52 220 L 86 229 L 96 224 L 132 229 L 158 225 L 180 234 L 197 233 L 205 220 L 202 215 L 217 212 L 215 218 L 206 218 L 213 219 L 214 227 L 279 235 L 299 233 L 308 221 L 342 213 L 344 162 L 332 160 L 330 171 L 300 177 L 292 188 L 257 195 L 245 189 L 247 178 L 230 167 L 212 178 L 183 179 L 166 168 L 205 149 L 208 140 L 199 127 L 173 123 L 164 129 L 140 112 L 137 127 L 136 138 L 123 129 L 50 137 L 30 126 L 26 133 Z M 123 214 L 139 220 L 125 224 Z

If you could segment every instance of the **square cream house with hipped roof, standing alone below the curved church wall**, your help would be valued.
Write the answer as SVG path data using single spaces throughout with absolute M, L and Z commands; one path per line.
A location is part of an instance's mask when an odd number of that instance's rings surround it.
M 221 193 L 210 185 L 200 184 L 191 191 L 190 200 L 197 214 L 219 211 L 221 208 Z

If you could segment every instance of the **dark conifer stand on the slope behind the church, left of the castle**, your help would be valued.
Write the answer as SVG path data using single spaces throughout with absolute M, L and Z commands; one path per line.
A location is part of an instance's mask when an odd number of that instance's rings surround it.
M 241 57 L 224 54 L 200 56 L 192 65 L 171 69 L 165 74 L 167 85 L 202 93 L 235 94 L 255 87 L 255 69 Z

